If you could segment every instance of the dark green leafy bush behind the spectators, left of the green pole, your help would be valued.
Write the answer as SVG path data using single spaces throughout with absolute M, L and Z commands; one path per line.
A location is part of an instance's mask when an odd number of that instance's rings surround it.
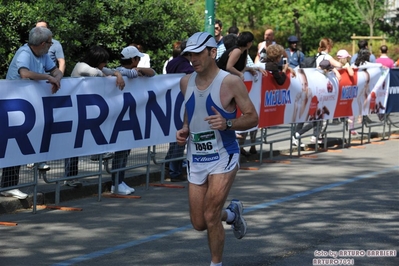
M 63 45 L 66 76 L 90 46 L 106 48 L 114 67 L 122 48 L 132 42 L 145 48 L 151 66 L 162 73 L 172 43 L 203 28 L 202 15 L 185 0 L 3 1 L 0 19 L 1 78 L 39 19 L 50 23 L 54 39 Z

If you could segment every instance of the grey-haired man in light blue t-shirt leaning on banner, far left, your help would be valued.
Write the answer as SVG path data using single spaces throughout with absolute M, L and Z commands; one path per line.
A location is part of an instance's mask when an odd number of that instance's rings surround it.
M 6 79 L 47 80 L 51 92 L 60 89 L 62 72 L 51 60 L 48 51 L 52 45 L 52 32 L 44 27 L 35 27 L 29 32 L 29 41 L 18 49 L 8 68 Z M 49 73 L 49 74 L 48 74 Z M 11 187 L 19 183 L 21 166 L 3 168 L 1 186 Z M 28 194 L 19 189 L 1 192 L 3 196 L 26 199 Z

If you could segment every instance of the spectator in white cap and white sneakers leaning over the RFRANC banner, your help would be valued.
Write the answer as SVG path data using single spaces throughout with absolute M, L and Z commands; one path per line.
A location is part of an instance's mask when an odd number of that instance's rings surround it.
M 117 71 L 121 73 L 122 76 L 126 76 L 129 79 L 138 77 L 153 77 L 155 75 L 155 70 L 152 68 L 138 67 L 140 59 L 144 58 L 144 54 L 139 52 L 139 50 L 134 46 L 128 46 L 123 48 L 121 52 L 120 65 L 116 68 Z M 112 158 L 112 169 L 123 169 L 126 167 L 127 158 L 130 154 L 129 150 L 117 151 L 114 153 Z M 117 173 L 112 173 L 112 186 L 111 193 L 117 193 L 121 195 L 129 195 L 134 193 L 134 188 L 129 187 L 125 183 L 125 171 L 121 170 L 118 172 L 118 189 L 115 191 L 115 179 Z

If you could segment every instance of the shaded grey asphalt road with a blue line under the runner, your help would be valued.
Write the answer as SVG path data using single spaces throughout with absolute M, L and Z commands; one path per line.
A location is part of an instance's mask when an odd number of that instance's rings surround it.
M 243 201 L 248 233 L 225 226 L 223 265 L 399 265 L 399 140 L 275 159 L 238 173 L 228 200 Z M 18 225 L 0 226 L 0 265 L 209 265 L 180 184 L 2 215 Z

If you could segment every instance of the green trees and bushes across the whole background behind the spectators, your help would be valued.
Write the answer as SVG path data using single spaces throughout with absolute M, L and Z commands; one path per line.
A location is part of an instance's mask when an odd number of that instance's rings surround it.
M 381 1 L 215 2 L 216 18 L 223 21 L 225 32 L 235 25 L 241 31 L 254 33 L 255 42 L 251 51 L 251 55 L 254 55 L 267 27 L 274 29 L 276 41 L 283 46 L 287 46 L 289 35 L 298 34 L 302 50 L 307 54 L 315 53 L 323 37 L 350 45 L 353 33 L 368 36 L 370 32 L 356 2 L 362 11 L 368 12 L 371 10 L 370 3 L 378 5 Z M 54 38 L 63 45 L 67 63 L 66 76 L 90 46 L 105 47 L 110 52 L 109 66 L 115 67 L 121 49 L 132 42 L 143 45 L 151 57 L 151 66 L 161 73 L 164 61 L 171 56 L 173 42 L 204 29 L 203 0 L 16 0 L 0 3 L 0 78 L 5 77 L 12 57 L 27 41 L 29 30 L 38 19 L 50 23 Z M 299 14 L 299 29 L 294 24 L 295 10 Z M 374 12 L 374 16 L 370 15 L 377 19 L 374 35 L 382 35 L 380 29 L 383 29 L 392 33 L 394 37 L 388 37 L 395 42 L 398 30 L 381 23 L 381 13 L 378 12 Z

